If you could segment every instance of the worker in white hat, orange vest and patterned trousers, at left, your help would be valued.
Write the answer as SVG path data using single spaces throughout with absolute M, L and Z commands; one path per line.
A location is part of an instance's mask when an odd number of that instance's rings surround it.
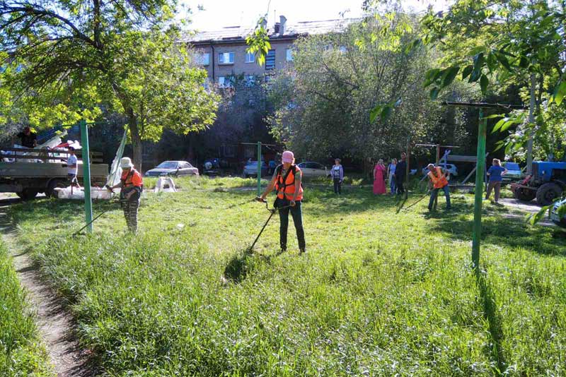
M 134 234 L 137 233 L 137 210 L 139 208 L 139 201 L 141 198 L 141 191 L 144 190 L 144 181 L 141 174 L 134 169 L 134 164 L 129 157 L 124 157 L 120 160 L 120 167 L 122 168 L 122 176 L 120 183 L 110 187 L 110 191 L 114 188 L 121 188 L 120 191 L 120 204 L 124 210 L 124 217 L 128 230 Z

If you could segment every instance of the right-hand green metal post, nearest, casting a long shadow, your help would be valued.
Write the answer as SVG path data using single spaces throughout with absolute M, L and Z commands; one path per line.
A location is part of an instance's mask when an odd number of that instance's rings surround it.
M 485 133 L 487 119 L 483 117 L 480 107 L 480 125 L 478 127 L 478 160 L 475 170 L 475 201 L 473 206 L 473 236 L 472 236 L 472 267 L 480 266 L 480 237 L 482 234 L 482 199 L 483 199 L 483 171 L 485 170 Z

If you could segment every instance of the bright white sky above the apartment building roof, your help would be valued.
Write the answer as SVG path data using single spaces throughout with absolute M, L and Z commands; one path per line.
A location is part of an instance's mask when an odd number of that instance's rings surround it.
M 432 4 L 435 10 L 446 7 L 447 0 L 401 0 L 404 8 L 422 11 Z M 268 25 L 277 17 L 287 17 L 289 23 L 306 20 L 331 20 L 362 16 L 363 0 L 180 0 L 192 10 L 191 29 L 218 30 L 225 26 L 253 27 L 265 14 L 269 4 Z M 199 10 L 199 6 L 204 10 Z M 186 14 L 181 11 L 181 14 Z

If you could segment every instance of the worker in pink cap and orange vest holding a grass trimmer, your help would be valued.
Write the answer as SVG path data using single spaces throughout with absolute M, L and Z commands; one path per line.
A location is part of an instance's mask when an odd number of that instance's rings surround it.
M 291 212 L 296 229 L 296 238 L 299 241 L 299 251 L 304 253 L 306 244 L 301 210 L 303 200 L 301 178 L 303 173 L 296 166 L 293 152 L 290 150 L 283 152 L 281 160 L 282 164 L 275 168 L 270 184 L 258 197 L 258 201 L 265 201 L 265 197 L 275 188 L 277 199 L 275 199 L 274 207 L 279 208 L 279 246 L 281 246 L 281 251 L 287 250 L 287 227 L 289 226 L 289 212 Z

